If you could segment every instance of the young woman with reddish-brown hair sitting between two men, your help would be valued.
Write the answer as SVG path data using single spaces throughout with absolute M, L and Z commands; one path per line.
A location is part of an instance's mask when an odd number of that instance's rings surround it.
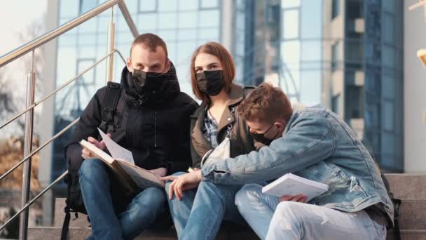
M 202 101 L 191 116 L 191 156 L 194 171 L 200 171 L 202 157 L 229 139 L 228 157 L 255 150 L 245 121 L 235 108 L 251 91 L 233 84 L 235 65 L 224 46 L 209 42 L 198 47 L 191 58 L 193 93 Z M 177 173 L 169 180 L 166 192 L 179 239 L 214 239 L 222 220 L 243 223 L 234 204 L 240 185 L 214 185 L 199 181 L 183 186 L 181 180 L 191 173 Z M 172 182 L 171 182 L 172 180 Z

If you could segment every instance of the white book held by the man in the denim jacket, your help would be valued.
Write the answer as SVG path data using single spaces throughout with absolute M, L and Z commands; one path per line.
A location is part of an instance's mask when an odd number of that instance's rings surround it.
M 298 195 L 303 194 L 308 196 L 307 202 L 313 199 L 315 196 L 320 196 L 324 192 L 327 192 L 329 186 L 315 182 L 306 178 L 301 178 L 297 175 L 287 173 L 281 178 L 271 182 L 262 188 L 262 192 L 273 196 L 285 196 L 285 195 Z

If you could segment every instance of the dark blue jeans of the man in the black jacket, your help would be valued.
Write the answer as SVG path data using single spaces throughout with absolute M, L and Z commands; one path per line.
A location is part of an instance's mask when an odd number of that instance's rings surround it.
M 88 239 L 134 239 L 165 211 L 162 189 L 151 187 L 125 196 L 111 169 L 99 159 L 84 160 L 78 176 L 92 225 Z

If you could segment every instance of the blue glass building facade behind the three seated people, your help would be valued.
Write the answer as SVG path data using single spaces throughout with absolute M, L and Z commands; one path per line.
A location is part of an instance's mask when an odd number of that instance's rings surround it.
M 292 101 L 324 103 L 355 129 L 382 168 L 402 171 L 402 6 L 395 0 L 235 0 L 231 21 L 222 18 L 231 0 L 126 0 L 140 33 L 161 36 L 177 68 L 181 89 L 192 95 L 191 54 L 207 41 L 223 39 L 231 26 L 229 50 L 240 84 L 268 81 Z M 102 4 L 102 0 L 59 2 L 62 24 Z M 228 5 L 227 5 L 228 6 Z M 60 36 L 57 76 L 60 86 L 107 54 L 111 11 Z M 114 9 L 116 48 L 129 55 L 133 36 Z M 114 60 L 119 81 L 124 63 Z M 84 74 L 55 99 L 55 133 L 78 117 L 97 88 L 104 86 L 106 64 Z M 52 178 L 66 168 L 55 140 Z

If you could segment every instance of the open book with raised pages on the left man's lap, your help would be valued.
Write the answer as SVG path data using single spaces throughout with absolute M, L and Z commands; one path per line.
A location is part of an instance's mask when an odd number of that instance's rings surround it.
M 135 165 L 132 152 L 111 140 L 99 128 L 98 131 L 111 156 L 86 140 L 81 140 L 80 145 L 88 149 L 92 155 L 104 161 L 116 173 L 118 180 L 123 183 L 123 187 L 132 192 L 137 192 L 148 187 L 165 186 L 165 183 L 158 179 L 154 173 Z

